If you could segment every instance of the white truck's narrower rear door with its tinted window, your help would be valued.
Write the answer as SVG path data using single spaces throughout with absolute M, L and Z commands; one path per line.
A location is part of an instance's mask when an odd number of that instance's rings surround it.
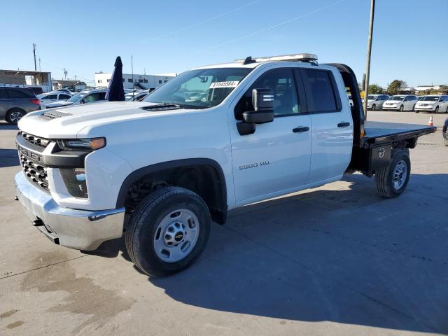
M 338 71 L 319 67 L 300 69 L 311 116 L 311 166 L 307 184 L 340 179 L 349 166 L 353 121 Z M 341 90 L 344 89 L 344 90 Z

